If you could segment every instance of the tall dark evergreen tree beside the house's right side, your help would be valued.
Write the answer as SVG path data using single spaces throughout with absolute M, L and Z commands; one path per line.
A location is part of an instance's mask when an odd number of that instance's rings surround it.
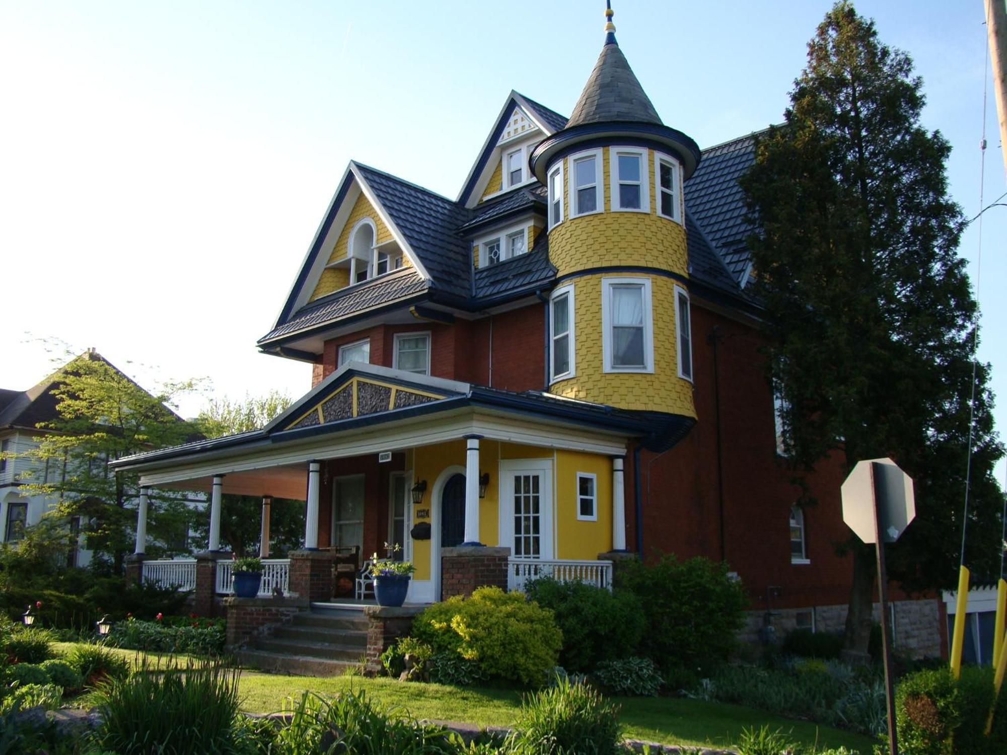
M 782 126 L 742 180 L 768 315 L 771 379 L 785 400 L 796 479 L 831 454 L 890 456 L 915 480 L 916 521 L 886 549 L 910 589 L 956 579 L 966 490 L 977 304 L 965 226 L 948 194 L 951 147 L 920 125 L 922 82 L 873 21 L 837 3 L 808 45 Z M 1002 493 L 989 365 L 976 369 L 966 562 L 992 572 Z M 873 547 L 855 537 L 846 646 L 864 652 Z

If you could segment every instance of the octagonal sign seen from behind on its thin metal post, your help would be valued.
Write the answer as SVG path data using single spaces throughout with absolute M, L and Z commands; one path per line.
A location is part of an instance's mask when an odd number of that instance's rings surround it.
M 881 644 L 884 649 L 888 752 L 898 755 L 895 691 L 891 670 L 891 626 L 888 623 L 888 573 L 884 544 L 894 543 L 916 515 L 912 478 L 891 459 L 859 461 L 842 487 L 843 520 L 864 543 L 876 544 L 878 598 L 881 601 Z

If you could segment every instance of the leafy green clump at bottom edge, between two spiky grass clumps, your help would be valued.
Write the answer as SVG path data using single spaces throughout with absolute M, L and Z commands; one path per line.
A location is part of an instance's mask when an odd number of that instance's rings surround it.
M 408 713 L 368 700 L 364 691 L 327 699 L 303 693 L 284 713 L 290 724 L 276 733 L 273 752 L 314 755 L 451 755 L 461 751 L 456 735 L 424 726 Z

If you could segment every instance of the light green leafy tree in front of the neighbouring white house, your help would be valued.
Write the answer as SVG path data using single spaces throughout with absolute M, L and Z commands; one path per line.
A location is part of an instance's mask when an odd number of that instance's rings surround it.
M 196 387 L 166 383 L 147 392 L 93 349 L 53 376 L 54 418 L 38 424 L 45 432 L 25 452 L 36 463 L 22 489 L 58 500 L 49 517 L 80 516 L 87 547 L 111 560 L 117 574 L 133 550 L 139 485 L 137 475 L 112 471 L 108 462 L 193 437 L 195 428 L 169 407 Z M 150 510 L 152 550 L 177 552 L 191 515 L 183 494 L 157 491 Z

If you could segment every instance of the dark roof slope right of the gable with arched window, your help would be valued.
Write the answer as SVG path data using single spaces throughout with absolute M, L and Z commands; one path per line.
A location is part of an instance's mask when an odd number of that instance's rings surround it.
M 390 173 L 354 163 L 392 222 L 420 258 L 432 287 L 458 296 L 471 289 L 468 244 L 454 235 L 469 212 L 446 196 L 434 193 Z

